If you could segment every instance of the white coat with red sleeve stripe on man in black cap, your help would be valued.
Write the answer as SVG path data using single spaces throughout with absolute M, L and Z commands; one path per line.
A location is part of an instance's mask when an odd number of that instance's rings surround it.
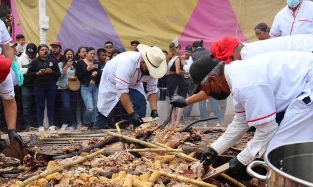
M 278 128 L 276 113 L 285 111 L 312 79 L 313 53 L 264 53 L 225 65 L 224 73 L 234 97 L 236 115 L 226 132 L 211 146 L 222 154 L 255 126 L 253 139 L 237 155 L 238 160 L 246 165 L 266 151 Z

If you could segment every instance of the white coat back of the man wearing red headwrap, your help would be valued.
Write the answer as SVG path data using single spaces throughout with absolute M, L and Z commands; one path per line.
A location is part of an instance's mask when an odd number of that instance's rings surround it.
M 313 35 L 297 34 L 243 43 L 240 51 L 241 59 L 272 51 L 313 51 Z

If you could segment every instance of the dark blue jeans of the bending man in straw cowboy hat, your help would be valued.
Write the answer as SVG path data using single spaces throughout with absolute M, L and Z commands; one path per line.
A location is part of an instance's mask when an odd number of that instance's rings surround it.
M 131 103 L 133 104 L 134 111 L 140 116 L 145 117 L 147 111 L 147 101 L 143 94 L 141 94 L 136 89 L 129 88 L 129 98 Z M 117 103 L 117 105 L 122 105 Z M 103 129 L 107 128 L 108 117 L 104 116 L 101 112 L 97 112 L 96 120 L 93 124 L 93 129 Z

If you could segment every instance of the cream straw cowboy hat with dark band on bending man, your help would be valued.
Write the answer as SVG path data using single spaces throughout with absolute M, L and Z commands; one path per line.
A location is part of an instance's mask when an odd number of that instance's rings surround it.
M 150 75 L 157 79 L 163 77 L 167 70 L 167 64 L 162 50 L 156 46 L 150 47 L 145 44 L 139 44 L 137 49 L 141 53 Z

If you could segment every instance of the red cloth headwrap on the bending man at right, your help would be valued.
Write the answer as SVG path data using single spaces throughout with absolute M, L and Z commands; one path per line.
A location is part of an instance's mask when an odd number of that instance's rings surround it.
M 211 44 L 211 53 L 219 61 L 229 64 L 229 57 L 233 55 L 233 51 L 238 44 L 237 38 L 224 36 Z

